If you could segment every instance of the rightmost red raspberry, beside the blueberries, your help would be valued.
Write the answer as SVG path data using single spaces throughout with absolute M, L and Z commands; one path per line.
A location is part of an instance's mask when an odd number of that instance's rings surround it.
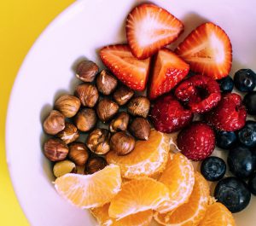
M 216 130 L 240 130 L 246 123 L 247 111 L 242 105 L 241 96 L 229 93 L 223 96 L 210 113 L 207 113 L 207 122 Z

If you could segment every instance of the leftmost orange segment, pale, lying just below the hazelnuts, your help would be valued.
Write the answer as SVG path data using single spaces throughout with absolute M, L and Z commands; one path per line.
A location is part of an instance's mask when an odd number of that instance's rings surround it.
M 108 165 L 91 175 L 68 173 L 55 180 L 56 191 L 68 202 L 82 209 L 103 206 L 121 187 L 118 165 Z

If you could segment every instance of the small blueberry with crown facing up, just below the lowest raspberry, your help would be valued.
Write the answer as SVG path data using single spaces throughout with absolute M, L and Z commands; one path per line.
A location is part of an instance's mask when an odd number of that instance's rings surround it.
M 219 181 L 226 172 L 226 164 L 223 159 L 215 156 L 204 159 L 201 163 L 201 174 L 210 182 Z

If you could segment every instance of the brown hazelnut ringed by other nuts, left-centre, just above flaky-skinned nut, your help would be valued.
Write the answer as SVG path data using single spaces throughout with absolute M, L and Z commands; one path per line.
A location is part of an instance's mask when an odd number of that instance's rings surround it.
M 91 108 L 80 109 L 74 119 L 74 122 L 78 129 L 83 132 L 91 130 L 97 122 L 95 110 Z

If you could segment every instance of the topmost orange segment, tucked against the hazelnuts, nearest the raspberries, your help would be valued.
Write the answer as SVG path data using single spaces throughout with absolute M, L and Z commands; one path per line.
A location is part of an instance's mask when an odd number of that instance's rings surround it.
M 130 154 L 119 156 L 110 151 L 106 159 L 108 164 L 120 166 L 122 177 L 152 177 L 164 170 L 169 149 L 169 138 L 161 132 L 151 130 L 148 141 L 137 141 Z

